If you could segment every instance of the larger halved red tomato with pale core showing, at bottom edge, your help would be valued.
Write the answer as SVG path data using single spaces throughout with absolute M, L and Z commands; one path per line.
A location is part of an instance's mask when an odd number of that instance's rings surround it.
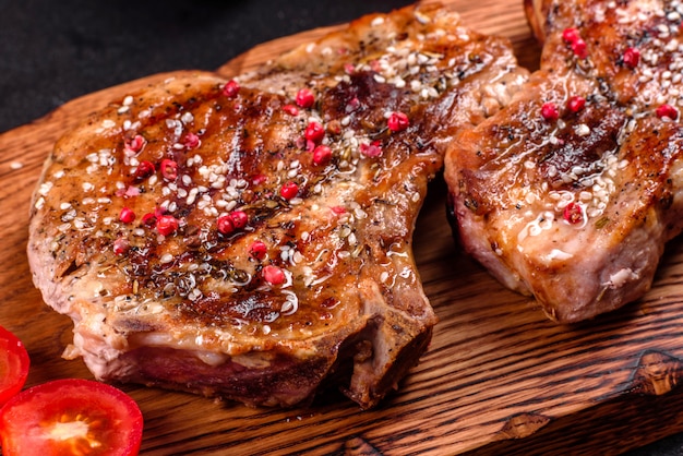
M 43 383 L 0 409 L 3 456 L 136 455 L 142 428 L 132 397 L 92 380 Z

